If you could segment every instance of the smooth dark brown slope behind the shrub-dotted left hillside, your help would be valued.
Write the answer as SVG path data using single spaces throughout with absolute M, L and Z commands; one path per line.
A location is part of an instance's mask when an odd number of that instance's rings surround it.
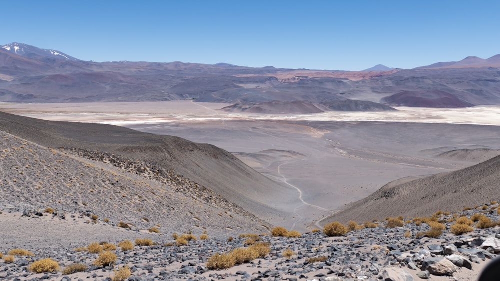
M 46 147 L 84 148 L 144 161 L 205 186 L 271 223 L 291 221 L 292 211 L 275 204 L 277 198 L 294 200 L 287 188 L 213 145 L 112 125 L 45 121 L 3 112 L 0 130 Z

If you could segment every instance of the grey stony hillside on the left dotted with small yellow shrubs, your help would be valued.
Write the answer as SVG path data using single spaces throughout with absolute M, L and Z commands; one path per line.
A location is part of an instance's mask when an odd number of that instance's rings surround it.
M 0 206 L 134 230 L 227 234 L 268 224 L 171 171 L 109 153 L 48 149 L 0 131 Z M 66 215 L 67 213 L 67 215 Z M 46 215 L 46 214 L 45 214 Z M 92 219 L 95 216 L 97 219 Z M 47 243 L 47 242 L 45 242 Z

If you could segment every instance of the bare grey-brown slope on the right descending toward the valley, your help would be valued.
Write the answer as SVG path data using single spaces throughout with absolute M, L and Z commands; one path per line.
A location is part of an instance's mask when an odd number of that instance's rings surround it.
M 466 206 L 497 200 L 499 178 L 500 156 L 496 156 L 453 172 L 409 182 L 397 180 L 364 199 L 348 204 L 322 223 L 348 220 L 363 222 L 392 216 L 428 216 L 436 210 L 460 211 Z

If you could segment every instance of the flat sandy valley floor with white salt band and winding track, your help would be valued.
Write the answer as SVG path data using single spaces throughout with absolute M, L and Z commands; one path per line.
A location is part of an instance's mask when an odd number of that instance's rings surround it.
M 500 107 L 495 106 L 307 115 L 217 110 L 226 105 L 192 101 L 0 103 L 0 110 L 47 120 L 115 124 L 214 144 L 296 190 L 299 201 L 292 206 L 293 226 L 310 225 L 392 180 L 477 163 L 435 157 L 439 152 L 500 148 L 496 127 Z M 275 199 L 277 206 L 289 208 L 289 204 Z

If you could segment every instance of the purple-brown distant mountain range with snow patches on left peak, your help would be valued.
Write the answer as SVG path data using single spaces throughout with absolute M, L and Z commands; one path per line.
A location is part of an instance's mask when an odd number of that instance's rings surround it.
M 377 65 L 363 71 L 179 61 L 94 62 L 14 42 L 0 47 L 0 101 L 194 99 L 247 107 L 261 103 L 268 106 L 275 101 L 324 104 L 356 100 L 371 103 L 350 110 L 383 110 L 390 106 L 467 107 L 500 103 L 497 67 L 500 55 L 488 59 L 466 57 L 414 69 Z M 380 106 L 374 107 L 373 103 Z

